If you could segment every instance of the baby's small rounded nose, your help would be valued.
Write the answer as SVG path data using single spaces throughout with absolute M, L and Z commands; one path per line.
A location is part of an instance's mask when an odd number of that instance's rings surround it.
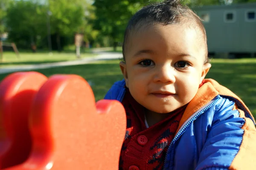
M 175 82 L 175 70 L 170 65 L 163 65 L 156 69 L 154 80 L 156 82 Z

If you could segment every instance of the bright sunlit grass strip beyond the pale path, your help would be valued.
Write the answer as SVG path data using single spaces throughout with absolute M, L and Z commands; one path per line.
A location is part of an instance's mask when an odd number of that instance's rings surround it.
M 82 53 L 81 58 L 93 57 L 96 54 L 93 53 Z M 0 62 L 0 68 L 17 66 L 17 65 L 31 65 L 31 64 L 42 64 L 50 62 L 62 62 L 76 60 L 75 53 L 58 53 L 54 52 L 52 55 L 49 53 L 20 53 L 20 58 L 17 58 L 14 52 L 4 52 L 3 62 Z

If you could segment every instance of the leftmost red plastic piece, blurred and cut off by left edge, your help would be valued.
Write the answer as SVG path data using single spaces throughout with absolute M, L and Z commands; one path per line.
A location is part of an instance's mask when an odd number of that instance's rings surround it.
M 24 162 L 31 151 L 28 119 L 32 101 L 47 77 L 37 72 L 10 74 L 0 83 L 1 168 Z

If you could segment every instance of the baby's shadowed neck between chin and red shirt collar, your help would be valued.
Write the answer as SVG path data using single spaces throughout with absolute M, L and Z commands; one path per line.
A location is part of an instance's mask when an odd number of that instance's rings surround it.
M 145 117 L 149 127 L 158 122 L 161 122 L 162 120 L 166 119 L 169 115 L 170 113 L 156 113 L 149 110 L 145 111 Z

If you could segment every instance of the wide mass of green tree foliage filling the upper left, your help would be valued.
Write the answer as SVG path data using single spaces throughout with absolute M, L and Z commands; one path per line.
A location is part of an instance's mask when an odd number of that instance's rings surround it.
M 86 26 L 88 18 L 85 15 L 91 5 L 87 0 L 18 0 L 13 1 L 6 9 L 6 26 L 9 40 L 19 48 L 30 48 L 31 43 L 47 47 L 47 29 L 51 28 L 52 45 L 63 48 L 62 45 L 74 42 L 76 33 L 93 32 L 92 26 Z M 90 14 L 90 13 L 89 13 Z

